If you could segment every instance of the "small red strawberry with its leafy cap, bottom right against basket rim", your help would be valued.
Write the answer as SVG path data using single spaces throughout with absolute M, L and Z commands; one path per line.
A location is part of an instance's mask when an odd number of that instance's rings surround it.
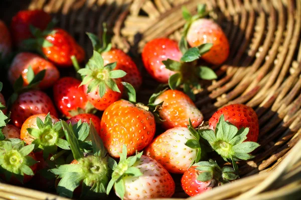
M 192 165 L 181 178 L 184 191 L 190 195 L 198 195 L 213 187 L 238 178 L 233 168 L 225 166 L 220 168 L 216 161 L 201 161 Z

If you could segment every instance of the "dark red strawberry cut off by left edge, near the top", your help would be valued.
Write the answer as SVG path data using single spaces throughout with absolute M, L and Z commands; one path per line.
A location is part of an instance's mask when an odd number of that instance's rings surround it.
M 12 51 L 12 38 L 11 33 L 6 24 L 0 20 L 0 59 L 6 58 L 6 56 Z

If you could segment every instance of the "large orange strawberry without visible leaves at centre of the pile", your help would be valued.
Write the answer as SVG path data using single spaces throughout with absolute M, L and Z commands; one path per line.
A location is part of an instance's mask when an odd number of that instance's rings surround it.
M 128 148 L 128 155 L 132 155 L 152 141 L 156 132 L 155 117 L 145 109 L 139 104 L 118 100 L 104 110 L 100 137 L 111 156 L 119 157 L 123 144 Z

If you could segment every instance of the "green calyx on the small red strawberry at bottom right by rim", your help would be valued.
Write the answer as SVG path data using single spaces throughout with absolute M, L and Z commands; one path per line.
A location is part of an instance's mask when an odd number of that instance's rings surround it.
M 193 166 L 196 166 L 196 169 L 200 171 L 197 180 L 211 180 L 209 184 L 210 187 L 218 186 L 238 178 L 238 175 L 235 173 L 233 168 L 229 166 L 220 168 L 217 162 L 213 159 L 209 159 L 209 161 L 200 161 L 195 163 Z

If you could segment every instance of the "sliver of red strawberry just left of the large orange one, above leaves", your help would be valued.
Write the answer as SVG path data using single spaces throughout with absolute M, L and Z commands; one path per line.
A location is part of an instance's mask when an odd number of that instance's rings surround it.
M 98 134 L 100 134 L 100 123 L 101 123 L 101 119 L 94 115 L 94 114 L 78 114 L 75 115 L 73 117 L 71 117 L 70 119 L 67 120 L 67 123 L 69 124 L 71 122 L 72 125 L 76 124 L 79 120 L 81 120 L 81 122 L 86 122 L 88 124 L 90 124 L 90 119 L 93 122 L 93 125 L 97 131 Z

